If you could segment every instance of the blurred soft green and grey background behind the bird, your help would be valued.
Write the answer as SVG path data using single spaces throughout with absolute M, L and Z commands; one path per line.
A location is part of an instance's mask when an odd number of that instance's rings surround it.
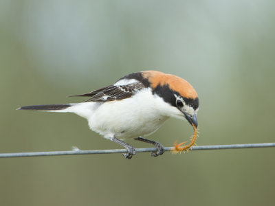
M 16 111 L 156 69 L 199 93 L 199 146 L 274 142 L 275 1 L 0 1 L 0 152 L 120 148 Z M 192 135 L 169 119 L 151 139 Z M 148 145 L 129 140 L 139 147 Z M 274 205 L 275 149 L 0 159 L 1 205 Z

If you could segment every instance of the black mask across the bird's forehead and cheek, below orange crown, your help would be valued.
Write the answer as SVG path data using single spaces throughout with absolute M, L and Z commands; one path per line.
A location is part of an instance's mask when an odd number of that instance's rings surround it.
M 188 106 L 192 106 L 194 110 L 199 108 L 199 98 L 184 98 L 179 95 L 177 91 L 172 91 L 167 84 L 164 84 L 163 86 L 157 85 L 157 87 L 155 87 L 155 89 L 153 90 L 153 93 L 156 93 L 160 97 L 164 98 L 164 101 L 172 106 L 177 106 L 175 97 L 176 95 L 177 97 L 181 97 Z

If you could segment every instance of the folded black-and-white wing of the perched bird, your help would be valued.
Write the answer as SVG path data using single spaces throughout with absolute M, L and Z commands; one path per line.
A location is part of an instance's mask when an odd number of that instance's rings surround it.
M 91 98 L 85 102 L 109 102 L 114 100 L 123 100 L 131 98 L 137 91 L 144 89 L 144 84 L 141 82 L 135 82 L 126 85 L 110 85 L 103 87 L 90 93 L 74 96 L 90 96 Z

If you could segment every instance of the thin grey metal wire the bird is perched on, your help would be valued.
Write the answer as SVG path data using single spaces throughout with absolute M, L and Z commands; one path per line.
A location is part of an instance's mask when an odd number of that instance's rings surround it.
M 192 150 L 224 150 L 224 149 L 241 149 L 241 148 L 270 148 L 275 147 L 275 143 L 261 144 L 230 144 L 230 145 L 213 145 L 213 146 L 194 146 Z M 137 148 L 136 152 L 153 152 L 156 148 Z M 165 148 L 165 151 L 173 151 L 173 147 Z M 120 150 L 79 150 L 73 148 L 70 151 L 53 151 L 53 152 L 17 152 L 17 153 L 0 153 L 0 158 L 7 157 L 41 157 L 41 156 L 58 156 L 58 155 L 96 155 L 96 154 L 113 154 L 126 153 L 125 149 Z

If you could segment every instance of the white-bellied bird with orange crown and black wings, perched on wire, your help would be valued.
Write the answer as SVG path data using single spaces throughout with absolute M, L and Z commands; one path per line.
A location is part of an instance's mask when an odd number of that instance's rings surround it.
M 114 84 L 89 93 L 85 102 L 21 106 L 18 110 L 75 113 L 88 120 L 89 128 L 126 149 L 126 159 L 135 148 L 124 139 L 153 145 L 151 156 L 164 154 L 164 146 L 144 137 L 154 133 L 169 117 L 186 119 L 197 128 L 199 98 L 192 85 L 178 76 L 161 71 L 130 73 Z

